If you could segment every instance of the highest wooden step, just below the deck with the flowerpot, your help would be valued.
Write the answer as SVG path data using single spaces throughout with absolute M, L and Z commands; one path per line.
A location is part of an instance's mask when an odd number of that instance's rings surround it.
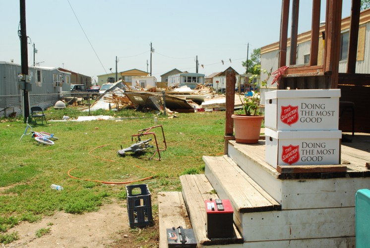
M 203 156 L 205 176 L 222 199 L 229 199 L 236 213 L 281 210 L 281 205 L 256 184 L 227 155 Z M 242 215 L 234 214 L 234 222 L 243 233 Z

